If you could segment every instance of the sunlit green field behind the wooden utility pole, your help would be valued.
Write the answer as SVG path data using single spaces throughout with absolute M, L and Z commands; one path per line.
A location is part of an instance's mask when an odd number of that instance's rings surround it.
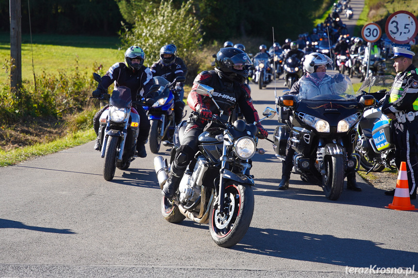
M 35 75 L 42 71 L 56 74 L 58 70 L 74 72 L 75 60 L 80 69 L 92 69 L 95 62 L 103 65 L 105 71 L 116 62 L 124 60 L 124 50 L 118 49 L 118 37 L 29 35 L 22 36 L 22 79 L 33 82 Z M 10 35 L 0 34 L 0 64 L 10 61 Z M 0 83 L 6 83 L 5 70 L 0 72 Z

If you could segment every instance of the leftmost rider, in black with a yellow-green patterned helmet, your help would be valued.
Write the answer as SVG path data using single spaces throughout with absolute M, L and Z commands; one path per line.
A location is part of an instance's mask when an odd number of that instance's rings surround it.
M 125 51 L 124 57 L 124 63 L 115 63 L 102 77 L 102 84 L 99 84 L 93 91 L 93 97 L 99 98 L 102 94 L 106 94 L 108 92 L 107 88 L 110 86 L 110 84 L 114 83 L 115 87 L 125 86 L 130 88 L 133 102 L 140 100 L 142 97 L 145 97 L 147 99 L 147 104 L 152 105 L 152 103 L 154 103 L 153 95 L 148 94 L 148 92 L 150 87 L 154 84 L 153 74 L 148 67 L 143 65 L 145 60 L 144 51 L 140 47 L 134 45 Z M 97 136 L 99 136 L 100 116 L 108 108 L 108 106 L 109 105 L 103 107 L 93 117 L 94 132 L 96 132 Z M 140 119 L 140 132 L 137 141 L 137 155 L 141 158 L 144 158 L 147 156 L 145 144 L 148 141 L 151 124 L 142 106 L 134 104 L 134 107 L 137 110 Z M 101 149 L 99 138 L 96 139 L 94 149 Z

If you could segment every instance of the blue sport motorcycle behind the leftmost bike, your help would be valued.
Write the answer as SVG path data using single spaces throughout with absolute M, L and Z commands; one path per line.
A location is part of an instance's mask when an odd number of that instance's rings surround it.
M 150 92 L 157 92 L 152 106 L 144 106 L 148 118 L 151 122 L 150 129 L 150 149 L 152 153 L 158 153 L 161 141 L 166 138 L 172 142 L 175 122 L 174 122 L 174 94 L 177 82 L 185 82 L 186 77 L 178 76 L 173 82 L 161 76 L 155 76 L 155 85 L 151 86 Z

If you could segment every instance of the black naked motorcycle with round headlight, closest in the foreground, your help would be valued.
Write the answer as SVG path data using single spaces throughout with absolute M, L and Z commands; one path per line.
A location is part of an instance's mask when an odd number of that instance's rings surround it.
M 244 237 L 251 223 L 254 180 L 250 175 L 250 159 L 255 153 L 263 154 L 265 151 L 257 148 L 258 128 L 243 120 L 237 120 L 232 125 L 213 99 L 213 91 L 213 88 L 202 84 L 197 88 L 197 93 L 209 96 L 215 102 L 221 116 L 214 115 L 210 127 L 207 126 L 199 136 L 199 151 L 188 165 L 173 199 L 162 197 L 161 212 L 171 223 L 185 218 L 209 223 L 214 242 L 228 248 Z M 276 111 L 267 107 L 263 115 L 264 118 L 273 118 Z M 172 146 L 170 165 L 176 149 L 181 146 L 185 129 L 184 121 L 176 128 L 174 144 L 164 142 Z M 161 189 L 168 179 L 170 165 L 161 156 L 154 159 Z

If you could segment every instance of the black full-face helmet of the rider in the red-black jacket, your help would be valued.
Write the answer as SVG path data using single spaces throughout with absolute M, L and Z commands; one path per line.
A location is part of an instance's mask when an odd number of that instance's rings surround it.
M 242 70 L 235 69 L 234 66 L 243 66 Z M 215 71 L 221 76 L 232 81 L 244 83 L 248 77 L 245 66 L 252 65 L 247 53 L 234 47 L 221 48 L 216 55 Z

